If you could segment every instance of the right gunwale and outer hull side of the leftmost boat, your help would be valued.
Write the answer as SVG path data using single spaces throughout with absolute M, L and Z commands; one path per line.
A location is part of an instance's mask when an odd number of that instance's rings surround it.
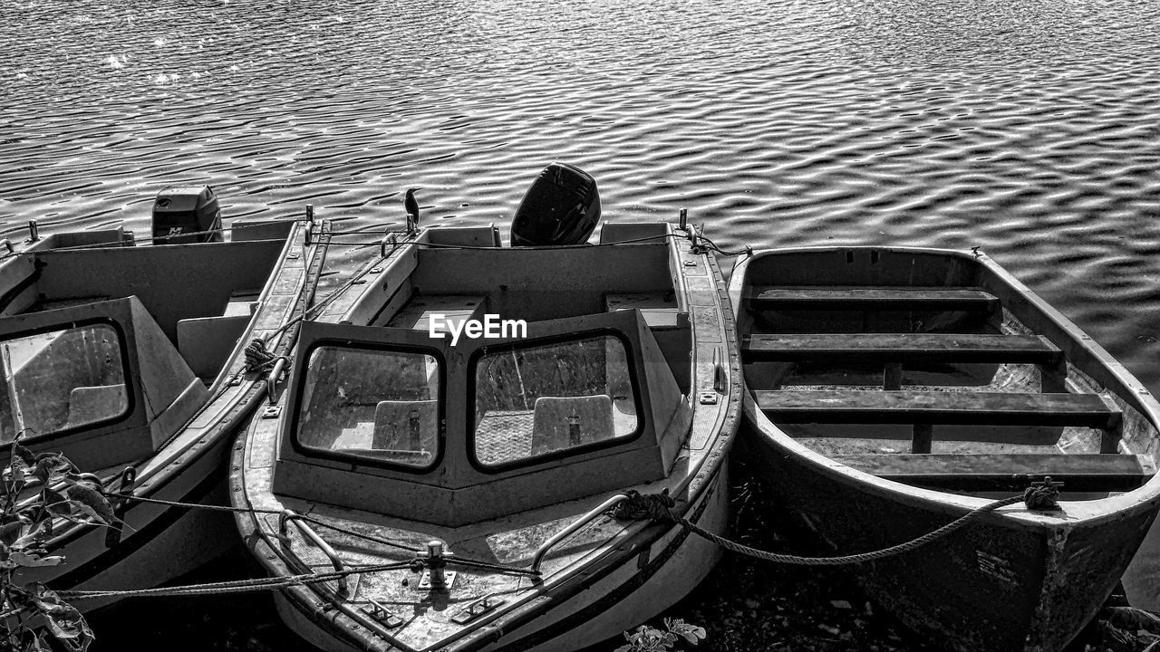
M 304 239 L 300 230 L 291 230 L 280 262 L 266 282 L 251 329 L 234 345 L 209 401 L 188 420 L 174 422 L 168 441 L 148 459 L 126 466 L 126 474 L 117 473 L 119 468 L 106 471 L 110 474 L 104 480 L 107 492 L 126 491 L 143 500 L 110 497 L 121 520 L 116 529 L 78 523 L 58 530 L 60 534 L 46 548 L 64 557 L 65 563 L 21 568 L 15 577 L 19 584 L 39 582 L 61 592 L 118 592 L 97 599 L 71 599 L 79 610 L 92 611 L 132 596 L 135 589 L 172 581 L 238 544 L 232 514 L 179 504 L 229 504 L 225 464 L 230 447 L 248 414 L 267 394 L 266 381 L 245 371 L 244 348 L 249 336 L 274 333 L 287 325 L 283 333 L 270 338 L 269 346 L 282 352 L 292 343 L 297 327 L 291 320 L 305 307 L 313 289 L 298 253 Z M 231 376 L 239 382 L 226 383 Z M 126 479 L 131 490 L 121 488 Z

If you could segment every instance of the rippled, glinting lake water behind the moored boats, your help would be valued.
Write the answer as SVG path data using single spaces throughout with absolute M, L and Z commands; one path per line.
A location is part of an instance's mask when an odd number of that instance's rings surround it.
M 548 162 L 726 248 L 980 246 L 1160 391 L 1160 5 L 0 0 L 0 237 L 502 227 Z M 338 258 L 356 265 L 368 249 Z

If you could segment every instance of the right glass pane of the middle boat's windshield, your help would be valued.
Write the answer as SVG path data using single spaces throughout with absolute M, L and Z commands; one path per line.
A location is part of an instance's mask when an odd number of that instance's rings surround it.
M 474 374 L 474 455 L 481 464 L 510 464 L 637 432 L 628 355 L 618 338 L 493 350 L 479 358 Z

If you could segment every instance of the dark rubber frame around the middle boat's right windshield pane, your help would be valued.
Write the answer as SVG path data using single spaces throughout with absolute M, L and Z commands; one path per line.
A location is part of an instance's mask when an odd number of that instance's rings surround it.
M 583 443 L 574 447 L 568 447 L 565 449 L 556 450 L 548 454 L 535 455 L 529 457 L 521 457 L 510 462 L 501 462 L 499 464 L 487 464 L 479 459 L 476 452 L 476 370 L 479 365 L 480 358 L 485 355 L 492 355 L 496 353 L 515 352 L 527 348 L 536 348 L 553 343 L 565 343 L 581 340 L 590 340 L 596 338 L 611 336 L 624 348 L 624 360 L 628 365 L 629 384 L 632 389 L 632 401 L 637 411 L 637 422 L 632 432 L 621 435 L 612 436 L 607 440 Z M 466 429 L 466 454 L 467 462 L 476 470 L 493 476 L 496 473 L 505 473 L 512 470 L 525 469 L 538 466 L 544 463 L 557 462 L 560 459 L 567 459 L 572 457 L 583 456 L 586 454 L 616 448 L 619 445 L 629 444 L 640 439 L 640 435 L 645 432 L 647 427 L 647 405 L 641 400 L 641 379 L 639 376 L 639 369 L 636 361 L 636 350 L 632 347 L 632 340 L 626 336 L 623 332 L 617 328 L 610 327 L 595 327 L 582 331 L 572 331 L 567 333 L 558 333 L 552 335 L 545 335 L 542 338 L 528 338 L 521 340 L 508 340 L 503 342 L 498 342 L 491 346 L 483 346 L 471 352 L 471 356 L 467 358 L 466 365 L 464 365 L 464 375 L 466 377 L 466 396 L 464 400 L 464 407 L 466 412 L 466 420 L 464 426 Z

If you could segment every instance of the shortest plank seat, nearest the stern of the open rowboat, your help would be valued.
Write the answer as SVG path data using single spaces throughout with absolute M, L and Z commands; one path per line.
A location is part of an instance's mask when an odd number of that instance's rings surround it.
M 993 312 L 999 299 L 971 288 L 769 288 L 755 287 L 754 310 L 929 310 Z

